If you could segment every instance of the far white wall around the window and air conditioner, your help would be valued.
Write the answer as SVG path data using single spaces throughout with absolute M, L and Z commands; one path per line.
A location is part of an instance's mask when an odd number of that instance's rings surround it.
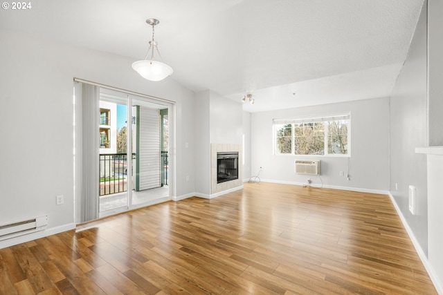
M 356 102 L 291 108 L 253 113 L 251 120 L 252 171 L 263 167 L 262 180 L 302 184 L 311 178 L 313 185 L 387 191 L 389 187 L 389 116 L 388 97 Z M 272 120 L 274 118 L 351 112 L 351 157 L 273 155 Z M 293 172 L 294 160 L 320 159 L 320 177 Z M 349 162 L 348 162 L 349 161 Z M 350 169 L 348 170 L 348 166 Z M 340 176 L 349 173 L 350 180 Z

